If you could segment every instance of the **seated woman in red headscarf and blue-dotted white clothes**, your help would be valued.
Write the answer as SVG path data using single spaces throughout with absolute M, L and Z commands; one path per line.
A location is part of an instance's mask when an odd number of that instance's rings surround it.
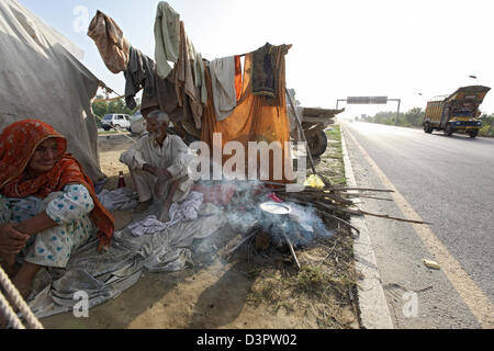
M 75 249 L 96 236 L 109 247 L 113 235 L 112 215 L 66 148 L 36 120 L 0 134 L 0 261 L 24 298 L 42 268 L 65 268 Z

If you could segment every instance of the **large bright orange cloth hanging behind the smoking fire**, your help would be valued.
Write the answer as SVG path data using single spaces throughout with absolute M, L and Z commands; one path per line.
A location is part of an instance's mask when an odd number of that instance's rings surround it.
M 278 91 L 284 91 L 285 89 L 285 63 L 284 56 L 290 47 L 282 45 L 273 48 L 277 67 L 277 81 L 276 86 Z M 270 181 L 277 181 L 281 183 L 290 182 L 294 179 L 292 169 L 292 159 L 290 147 L 285 147 L 285 141 L 290 141 L 290 123 L 287 116 L 287 102 L 285 94 L 279 93 L 274 99 L 255 95 L 252 93 L 252 54 L 245 56 L 244 67 L 244 86 L 240 101 L 234 109 L 228 118 L 217 121 L 214 103 L 211 99 L 212 95 L 212 82 L 211 76 L 206 70 L 206 83 L 209 99 L 207 104 L 204 107 L 203 127 L 201 131 L 201 140 L 206 143 L 213 148 L 213 134 L 221 133 L 222 145 L 228 141 L 236 140 L 244 145 L 245 150 L 248 150 L 248 141 L 279 141 L 282 154 L 281 169 L 273 168 L 273 155 L 269 156 L 269 176 Z M 232 156 L 225 156 L 223 162 L 226 162 Z M 254 157 L 254 156 L 251 156 Z M 257 170 L 252 172 L 259 172 L 259 154 L 257 155 Z M 249 170 L 254 165 L 249 163 L 249 155 L 246 152 L 245 159 L 246 176 L 248 177 Z M 277 172 L 281 171 L 281 177 L 278 177 Z

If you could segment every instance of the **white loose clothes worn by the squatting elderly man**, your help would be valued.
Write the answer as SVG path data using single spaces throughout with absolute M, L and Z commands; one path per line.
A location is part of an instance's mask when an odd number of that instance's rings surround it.
M 122 154 L 120 161 L 127 165 L 131 170 L 139 202 L 146 202 L 150 199 L 155 201 L 166 199 L 171 183 L 184 178 L 172 197 L 172 202 L 179 202 L 187 197 L 194 185 L 188 170 L 193 158 L 194 156 L 190 152 L 189 147 L 179 136 L 168 135 L 162 147 L 160 147 L 153 136 L 146 134 L 133 147 Z M 165 193 L 160 199 L 157 199 L 154 192 L 157 177 L 143 170 L 145 163 L 167 169 L 172 176 L 168 180 Z

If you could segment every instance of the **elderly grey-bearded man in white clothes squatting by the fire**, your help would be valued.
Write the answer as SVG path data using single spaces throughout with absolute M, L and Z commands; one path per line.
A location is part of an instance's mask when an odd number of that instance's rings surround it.
M 128 166 L 141 210 L 153 201 L 162 202 L 158 219 L 166 223 L 171 204 L 183 201 L 194 184 L 188 173 L 193 156 L 179 136 L 167 134 L 170 118 L 165 112 L 149 113 L 146 122 L 148 134 L 123 152 L 120 161 Z

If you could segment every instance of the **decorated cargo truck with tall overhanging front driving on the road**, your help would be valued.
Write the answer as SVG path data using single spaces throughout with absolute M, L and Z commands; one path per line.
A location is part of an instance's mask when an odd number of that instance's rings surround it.
M 490 90 L 489 87 L 469 86 L 459 88 L 451 95 L 431 99 L 427 102 L 424 132 L 442 131 L 447 136 L 462 133 L 476 137 L 482 127 L 479 106 Z

